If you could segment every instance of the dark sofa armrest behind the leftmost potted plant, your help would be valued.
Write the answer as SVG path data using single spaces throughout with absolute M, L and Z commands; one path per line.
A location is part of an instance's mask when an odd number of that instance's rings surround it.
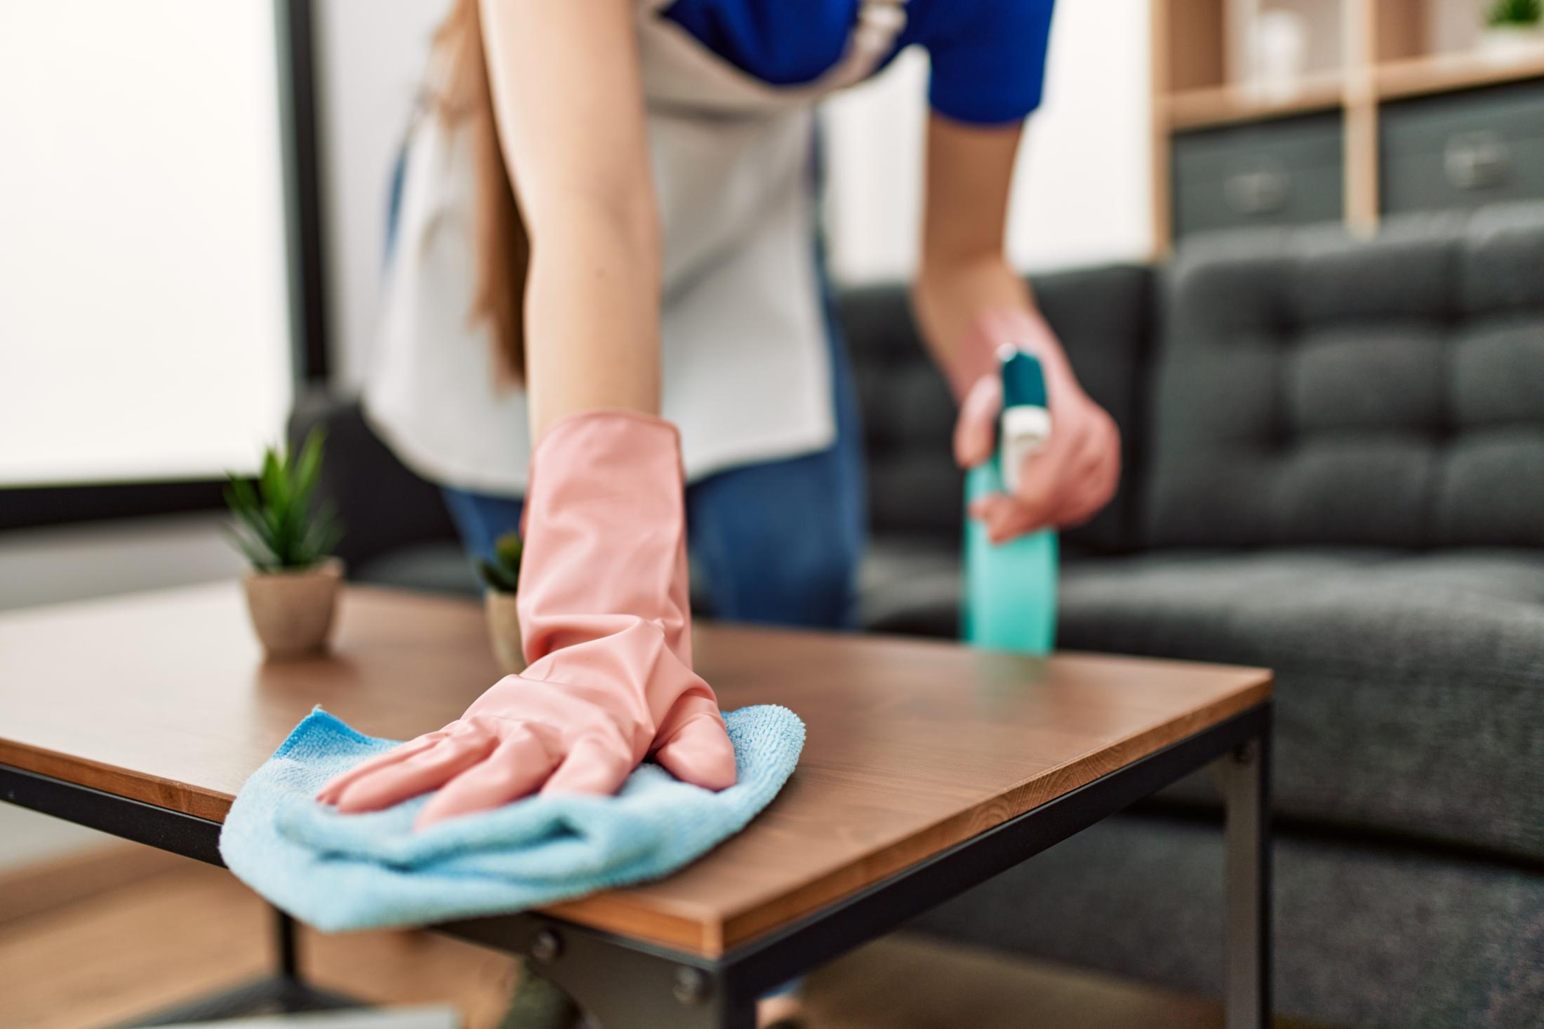
M 380 441 L 358 400 L 307 390 L 290 412 L 290 446 L 313 427 L 327 434 L 318 500 L 338 509 L 343 538 L 337 552 L 350 569 L 401 546 L 455 538 L 438 488 L 408 471 Z

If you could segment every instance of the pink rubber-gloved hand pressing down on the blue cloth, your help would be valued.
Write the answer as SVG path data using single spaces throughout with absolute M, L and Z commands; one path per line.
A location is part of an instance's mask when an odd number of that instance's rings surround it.
M 423 828 L 539 788 L 613 793 L 650 753 L 686 782 L 733 785 L 718 702 L 692 671 L 675 426 L 594 412 L 548 429 L 531 457 L 517 597 L 525 671 L 318 801 L 374 811 L 440 790 Z

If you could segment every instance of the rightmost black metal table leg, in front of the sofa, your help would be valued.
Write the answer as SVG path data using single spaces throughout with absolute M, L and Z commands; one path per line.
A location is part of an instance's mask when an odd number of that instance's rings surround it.
M 1271 724 L 1214 765 L 1227 845 L 1227 1029 L 1271 1023 Z

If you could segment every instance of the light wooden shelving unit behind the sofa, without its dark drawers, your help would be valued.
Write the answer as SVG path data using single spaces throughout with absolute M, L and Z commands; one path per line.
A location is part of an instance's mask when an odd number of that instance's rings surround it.
M 1252 69 L 1263 11 L 1295 11 L 1308 26 L 1308 66 L 1288 88 Z M 1508 60 L 1476 46 L 1475 0 L 1152 0 L 1153 239 L 1172 231 L 1175 133 L 1339 111 L 1345 127 L 1345 219 L 1368 233 L 1379 218 L 1379 110 L 1388 100 L 1544 79 L 1538 52 Z

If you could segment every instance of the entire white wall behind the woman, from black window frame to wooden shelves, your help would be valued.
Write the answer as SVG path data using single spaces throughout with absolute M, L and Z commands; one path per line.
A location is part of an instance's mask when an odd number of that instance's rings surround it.
M 321 130 L 337 366 L 360 381 L 375 324 L 386 188 L 445 0 L 323 0 Z M 1027 268 L 1152 253 L 1146 0 L 1062 0 L 1030 122 L 1008 250 Z M 828 103 L 828 227 L 843 281 L 906 275 L 922 197 L 926 57 Z

